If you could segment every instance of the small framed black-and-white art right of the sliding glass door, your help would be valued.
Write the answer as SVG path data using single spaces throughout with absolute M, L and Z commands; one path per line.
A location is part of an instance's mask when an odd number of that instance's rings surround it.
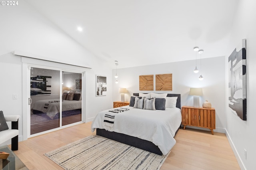
M 107 77 L 105 75 L 96 75 L 96 96 L 106 96 Z

